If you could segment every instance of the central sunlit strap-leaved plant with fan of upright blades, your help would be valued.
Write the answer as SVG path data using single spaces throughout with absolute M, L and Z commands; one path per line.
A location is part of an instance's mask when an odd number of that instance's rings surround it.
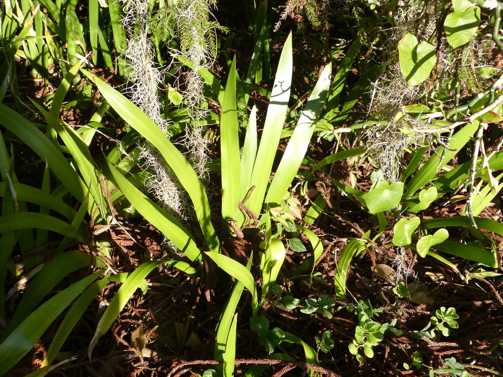
M 198 275 L 198 266 L 203 258 L 202 251 L 204 250 L 206 255 L 219 267 L 238 280 L 222 313 L 216 332 L 215 356 L 219 359 L 223 358 L 224 375 L 233 373 L 235 341 L 230 340 L 235 339 L 237 317 L 234 313 L 243 287 L 246 287 L 252 295 L 253 314 L 256 316 L 260 310 L 260 305 L 264 303 L 268 293 L 272 292 L 276 277 L 283 264 L 285 247 L 278 238 L 279 234 L 273 235 L 272 215 L 269 209 L 278 206 L 288 208 L 284 198 L 288 198 L 289 187 L 295 179 L 305 156 L 316 122 L 328 97 L 331 64 L 323 69 L 304 111 L 298 119 L 274 178 L 270 182 L 273 162 L 288 111 L 292 65 L 292 37 L 290 35 L 283 47 L 276 79 L 270 94 L 262 140 L 259 142 L 257 138 L 257 110 L 254 108 L 248 118 L 242 153 L 240 153 L 239 144 L 240 124 L 238 122 L 237 107 L 241 105 L 245 108 L 246 104 L 239 104 L 238 96 L 236 96 L 238 77 L 235 61 L 232 62 L 225 89 L 220 85 L 213 85 L 213 89 L 216 88 L 216 95 L 220 99 L 222 107 L 220 120 L 222 206 L 219 214 L 211 213 L 208 198 L 196 172 L 172 142 L 134 104 L 104 81 L 95 78 L 98 88 L 110 106 L 159 151 L 167 165 L 180 180 L 192 200 L 206 245 L 199 245 L 196 242 L 196 235 L 192 234 L 177 219 L 167 214 L 143 195 L 109 162 L 111 178 L 117 184 L 119 190 L 147 221 L 157 227 L 187 256 L 195 269 L 189 267 L 186 263 L 182 263 L 180 266 L 185 272 Z M 244 204 L 244 202 L 246 203 Z M 255 278 L 249 272 L 250 262 L 244 266 L 220 253 L 220 241 L 211 221 L 213 215 L 215 220 L 220 217 L 229 225 L 236 224 L 241 227 L 245 221 L 242 212 L 243 206 L 247 207 L 249 213 L 255 214 L 259 224 L 265 227 L 264 247 L 263 251 L 260 252 L 263 283 L 260 299 Z M 310 236 L 312 241 L 320 244 L 317 237 L 312 237 L 311 234 Z M 319 249 L 319 247 L 316 247 L 316 249 Z M 317 254 L 319 257 L 320 253 Z M 249 261 L 251 261 L 251 255 Z M 176 264 L 176 266 L 179 265 Z M 119 300 L 118 296 L 115 299 Z M 121 300 L 124 300 L 124 298 L 121 298 Z M 106 326 L 98 326 L 99 330 L 97 330 L 94 342 L 90 347 L 90 352 L 99 336 L 110 327 L 111 321 L 108 319 L 115 318 L 119 314 L 118 307 L 112 304 L 107 308 L 100 322 L 100 325 L 103 323 Z M 301 344 L 304 347 L 306 361 L 315 363 L 315 351 L 311 347 L 294 335 L 285 334 L 285 341 Z

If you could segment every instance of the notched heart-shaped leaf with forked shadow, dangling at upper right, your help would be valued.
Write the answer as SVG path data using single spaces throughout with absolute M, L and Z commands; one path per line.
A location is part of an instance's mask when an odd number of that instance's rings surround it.
M 412 34 L 405 34 L 398 42 L 398 58 L 400 71 L 410 87 L 430 77 L 437 62 L 435 47 L 426 41 L 417 44 L 417 38 Z

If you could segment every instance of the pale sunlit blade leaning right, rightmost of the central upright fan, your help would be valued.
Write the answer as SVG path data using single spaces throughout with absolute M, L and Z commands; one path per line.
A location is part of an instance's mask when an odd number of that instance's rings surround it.
M 331 71 L 332 65 L 329 63 L 321 72 L 318 82 L 309 96 L 304 111 L 297 122 L 297 127 L 288 142 L 278 170 L 274 174 L 274 179 L 266 196 L 266 203 L 280 203 L 299 170 L 311 141 L 316 122 L 325 105 L 328 87 L 330 86 Z

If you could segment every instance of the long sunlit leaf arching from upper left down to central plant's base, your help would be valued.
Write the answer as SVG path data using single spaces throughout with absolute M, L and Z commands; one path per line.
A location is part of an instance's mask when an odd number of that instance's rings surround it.
M 157 148 L 166 160 L 166 163 L 175 172 L 194 204 L 194 209 L 208 247 L 210 250 L 218 252 L 219 242 L 215 229 L 211 224 L 208 198 L 199 177 L 190 163 L 143 111 L 101 78 L 94 77 L 94 79 L 108 103 L 131 127 Z

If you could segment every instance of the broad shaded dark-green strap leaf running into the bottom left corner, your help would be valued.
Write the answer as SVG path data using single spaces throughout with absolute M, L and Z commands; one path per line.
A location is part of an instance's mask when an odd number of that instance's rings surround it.
M 100 270 L 58 293 L 37 308 L 0 344 L 0 376 L 7 373 L 32 349 L 63 310 L 103 273 Z

